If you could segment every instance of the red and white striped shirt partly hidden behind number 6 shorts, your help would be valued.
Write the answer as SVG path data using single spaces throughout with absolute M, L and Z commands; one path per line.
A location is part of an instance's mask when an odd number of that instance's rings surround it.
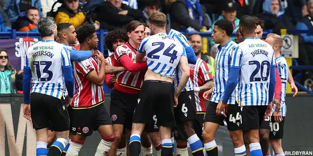
M 189 64 L 189 69 L 190 79 L 192 80 L 194 87 L 201 87 L 206 82 L 213 80 L 213 77 L 206 62 L 198 57 L 196 64 Z M 203 93 L 196 92 L 195 99 L 197 112 L 205 112 L 206 108 L 204 104 Z

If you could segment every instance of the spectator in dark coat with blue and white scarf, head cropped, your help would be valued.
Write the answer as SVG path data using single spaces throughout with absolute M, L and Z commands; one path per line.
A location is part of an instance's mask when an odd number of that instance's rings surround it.
M 176 0 L 171 9 L 171 27 L 175 30 L 209 29 L 206 9 L 198 0 Z

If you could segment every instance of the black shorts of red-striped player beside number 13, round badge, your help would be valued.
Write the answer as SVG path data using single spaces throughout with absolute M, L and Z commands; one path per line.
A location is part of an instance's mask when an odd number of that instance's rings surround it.
M 102 125 L 112 125 L 109 113 L 104 103 L 86 109 L 71 108 L 70 132 L 73 135 L 91 136 Z

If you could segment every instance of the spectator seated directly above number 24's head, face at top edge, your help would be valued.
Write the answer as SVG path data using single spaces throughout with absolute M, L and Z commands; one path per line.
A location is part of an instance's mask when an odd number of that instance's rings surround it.
M 149 24 L 148 17 L 156 12 L 160 12 L 161 3 L 159 0 L 147 0 L 146 9 L 142 11 L 143 19 L 142 22 Z

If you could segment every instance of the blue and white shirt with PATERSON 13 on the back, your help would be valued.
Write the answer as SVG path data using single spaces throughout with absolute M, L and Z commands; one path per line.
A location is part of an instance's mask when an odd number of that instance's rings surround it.
M 24 68 L 31 69 L 31 93 L 65 98 L 63 68 L 71 68 L 69 52 L 63 44 L 42 40 L 28 48 Z

